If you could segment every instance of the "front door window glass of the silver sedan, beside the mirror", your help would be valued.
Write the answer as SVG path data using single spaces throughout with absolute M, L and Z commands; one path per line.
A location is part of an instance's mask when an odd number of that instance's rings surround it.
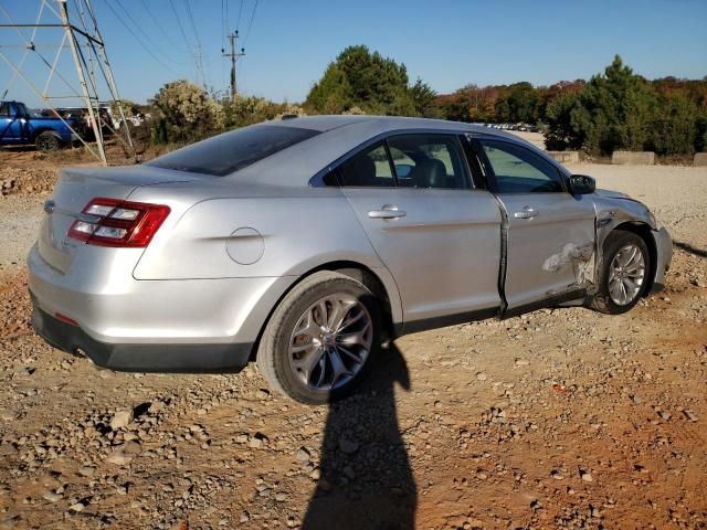
M 529 149 L 505 141 L 479 141 L 494 171 L 498 193 L 563 191 L 557 168 Z

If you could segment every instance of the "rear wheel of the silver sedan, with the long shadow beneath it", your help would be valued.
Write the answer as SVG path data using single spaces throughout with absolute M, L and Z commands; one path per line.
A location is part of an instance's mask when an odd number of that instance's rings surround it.
M 257 368 L 274 390 L 295 401 L 336 401 L 370 370 L 381 322 L 379 301 L 363 284 L 339 273 L 314 273 L 271 316 Z

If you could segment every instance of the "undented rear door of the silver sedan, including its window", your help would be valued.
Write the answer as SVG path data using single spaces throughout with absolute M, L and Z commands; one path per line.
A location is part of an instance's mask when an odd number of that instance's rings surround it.
M 390 269 L 408 331 L 498 308 L 500 211 L 473 189 L 455 135 L 400 135 L 338 169 L 342 192 Z

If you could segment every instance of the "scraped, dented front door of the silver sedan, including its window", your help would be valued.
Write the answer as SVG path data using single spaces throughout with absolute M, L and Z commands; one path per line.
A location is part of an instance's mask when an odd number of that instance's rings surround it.
M 477 149 L 507 216 L 508 309 L 587 287 L 594 256 L 591 199 L 569 193 L 559 169 L 519 142 L 479 138 Z

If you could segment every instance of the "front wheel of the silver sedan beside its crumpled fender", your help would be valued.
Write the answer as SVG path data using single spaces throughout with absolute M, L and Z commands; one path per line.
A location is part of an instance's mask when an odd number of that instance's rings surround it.
M 631 310 L 645 292 L 650 271 L 651 254 L 643 237 L 614 231 L 604 242 L 599 290 L 590 307 L 608 315 Z

